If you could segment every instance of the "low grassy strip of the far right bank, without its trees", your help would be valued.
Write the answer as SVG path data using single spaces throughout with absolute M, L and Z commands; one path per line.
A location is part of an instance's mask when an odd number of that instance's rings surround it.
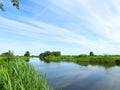
M 45 56 L 45 61 L 77 61 L 77 62 L 98 62 L 98 63 L 119 63 L 120 56 L 101 55 L 101 56 Z

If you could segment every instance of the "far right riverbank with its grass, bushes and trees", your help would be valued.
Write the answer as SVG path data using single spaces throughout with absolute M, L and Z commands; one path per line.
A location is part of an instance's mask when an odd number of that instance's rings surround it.
M 99 63 L 99 64 L 120 64 L 120 55 L 94 55 L 91 51 L 89 55 L 61 55 L 59 51 L 50 52 L 45 51 L 39 55 L 41 60 L 46 62 L 50 61 L 68 61 L 68 62 L 88 62 L 88 63 Z

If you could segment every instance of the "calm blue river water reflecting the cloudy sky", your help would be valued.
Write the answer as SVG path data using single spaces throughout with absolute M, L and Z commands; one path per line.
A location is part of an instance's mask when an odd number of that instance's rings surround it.
M 38 58 L 31 58 L 29 63 L 46 74 L 48 84 L 54 90 L 120 90 L 119 66 L 45 63 Z

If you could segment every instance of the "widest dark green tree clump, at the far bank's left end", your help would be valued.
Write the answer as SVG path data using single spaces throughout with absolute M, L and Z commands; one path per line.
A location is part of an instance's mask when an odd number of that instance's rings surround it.
M 61 56 L 61 52 L 60 51 L 45 51 L 44 53 L 40 53 L 39 57 L 41 59 L 44 59 L 46 56 Z

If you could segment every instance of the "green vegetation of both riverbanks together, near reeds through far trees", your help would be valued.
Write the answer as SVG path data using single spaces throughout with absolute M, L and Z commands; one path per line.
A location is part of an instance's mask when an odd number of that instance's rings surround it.
M 60 51 L 45 51 L 39 56 L 26 51 L 23 56 L 15 56 L 12 51 L 0 55 L 0 89 L 1 90 L 52 90 L 46 82 L 45 75 L 38 73 L 27 63 L 30 58 L 40 58 L 49 62 L 75 62 L 87 66 L 105 65 L 106 68 L 120 65 L 120 55 L 95 55 L 92 51 L 80 55 L 61 55 Z

